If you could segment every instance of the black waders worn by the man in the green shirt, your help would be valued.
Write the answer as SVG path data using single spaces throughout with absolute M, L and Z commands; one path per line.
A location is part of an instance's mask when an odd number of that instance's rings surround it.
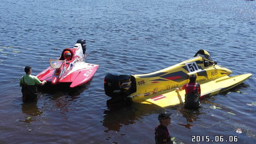
M 28 85 L 24 81 L 24 76 L 22 77 L 22 98 L 24 101 L 33 101 L 37 99 L 37 85 Z

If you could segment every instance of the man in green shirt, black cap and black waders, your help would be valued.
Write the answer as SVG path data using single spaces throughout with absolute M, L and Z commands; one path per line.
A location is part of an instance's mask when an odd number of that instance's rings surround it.
M 22 98 L 24 101 L 33 101 L 37 99 L 37 85 L 43 86 L 46 81 L 40 81 L 36 76 L 31 75 L 32 67 L 26 66 L 26 75 L 23 75 L 20 79 L 20 86 L 22 86 Z

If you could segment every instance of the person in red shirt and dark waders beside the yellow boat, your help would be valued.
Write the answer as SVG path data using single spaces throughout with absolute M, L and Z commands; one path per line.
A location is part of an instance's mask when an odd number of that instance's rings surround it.
M 189 76 L 190 82 L 185 84 L 182 88 L 177 88 L 176 91 L 185 90 L 185 108 L 187 109 L 198 109 L 200 107 L 199 97 L 201 95 L 200 84 L 195 82 L 196 75 L 191 74 Z

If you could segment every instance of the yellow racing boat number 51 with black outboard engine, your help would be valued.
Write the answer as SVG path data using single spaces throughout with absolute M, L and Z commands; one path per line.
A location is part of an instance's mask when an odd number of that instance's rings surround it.
M 185 90 L 175 89 L 189 82 L 195 74 L 201 86 L 201 98 L 229 90 L 252 74 L 230 77 L 231 70 L 218 66 L 206 50 L 199 50 L 193 58 L 150 74 L 126 75 L 108 73 L 104 78 L 105 94 L 109 102 L 129 100 L 133 102 L 156 104 L 161 107 L 185 102 Z

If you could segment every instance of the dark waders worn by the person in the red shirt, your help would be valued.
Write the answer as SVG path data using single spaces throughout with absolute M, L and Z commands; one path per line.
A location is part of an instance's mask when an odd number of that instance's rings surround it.
M 193 92 L 191 94 L 185 94 L 185 108 L 197 109 L 198 107 L 200 107 L 200 94 L 197 94 L 198 87 L 199 84 L 195 83 Z

